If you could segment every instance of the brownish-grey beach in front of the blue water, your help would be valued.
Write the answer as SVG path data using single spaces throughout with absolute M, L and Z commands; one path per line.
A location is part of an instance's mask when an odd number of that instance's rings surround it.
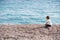
M 42 24 L 0 24 L 0 40 L 60 40 L 60 25 L 48 30 Z

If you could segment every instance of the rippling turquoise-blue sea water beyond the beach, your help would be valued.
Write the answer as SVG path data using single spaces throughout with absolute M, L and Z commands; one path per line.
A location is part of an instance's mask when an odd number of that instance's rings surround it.
M 0 0 L 1 24 L 42 24 L 47 15 L 60 24 L 60 0 Z

